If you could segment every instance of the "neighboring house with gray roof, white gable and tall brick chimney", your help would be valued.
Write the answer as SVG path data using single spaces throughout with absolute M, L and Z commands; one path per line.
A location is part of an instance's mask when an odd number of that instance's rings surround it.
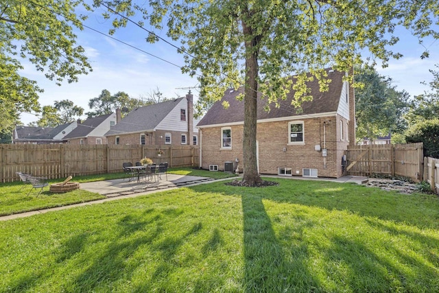
M 128 113 L 105 136 L 108 144 L 198 145 L 193 120 L 193 95 L 139 107 Z

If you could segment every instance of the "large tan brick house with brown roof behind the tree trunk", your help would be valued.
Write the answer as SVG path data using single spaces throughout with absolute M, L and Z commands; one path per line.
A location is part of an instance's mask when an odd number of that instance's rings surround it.
M 285 176 L 342 176 L 344 151 L 355 143 L 355 97 L 344 73 L 327 69 L 331 83 L 329 91 L 320 93 L 318 81 L 307 82 L 313 96 L 304 102 L 302 111 L 291 105 L 294 91 L 279 108 L 267 99 L 257 103 L 257 166 L 260 174 Z M 200 167 L 211 170 L 239 171 L 243 169 L 244 100 L 243 93 L 228 90 L 204 115 L 200 129 Z M 222 102 L 230 106 L 225 109 Z M 343 164 L 342 164 L 343 163 Z

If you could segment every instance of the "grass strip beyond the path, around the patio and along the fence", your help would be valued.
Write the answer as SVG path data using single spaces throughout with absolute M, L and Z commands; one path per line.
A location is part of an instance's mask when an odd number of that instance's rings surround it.
M 191 175 L 191 176 L 203 176 L 211 177 L 215 179 L 228 178 L 235 176 L 234 174 L 226 172 L 209 172 L 202 169 L 192 169 L 192 168 L 173 168 L 169 169 L 169 173 L 180 174 L 180 175 Z M 112 174 L 98 174 L 98 175 L 88 175 L 88 176 L 75 176 L 71 181 L 86 183 L 102 180 L 110 180 L 123 178 L 126 176 L 123 173 L 112 173 Z M 59 183 L 63 179 L 49 180 L 49 183 Z M 34 189 L 30 192 L 31 185 L 28 185 L 21 189 L 23 183 L 3 183 L 0 184 L 0 216 L 1 215 L 11 215 L 14 213 L 23 213 L 26 211 L 36 211 L 39 209 L 47 209 L 51 207 L 61 207 L 64 205 L 75 204 L 80 202 L 88 202 L 91 200 L 99 200 L 105 198 L 105 196 L 95 194 L 93 192 L 85 191 L 82 189 L 77 189 L 75 191 L 70 191 L 64 194 L 54 194 L 49 192 L 49 187 L 43 189 L 43 193 L 36 197 L 38 190 Z M 28 195 L 29 194 L 29 195 Z

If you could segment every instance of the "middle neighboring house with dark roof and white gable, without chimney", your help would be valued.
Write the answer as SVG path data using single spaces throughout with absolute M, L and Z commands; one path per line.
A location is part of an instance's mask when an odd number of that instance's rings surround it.
M 119 110 L 117 110 L 117 112 L 118 111 Z M 105 134 L 110 130 L 110 126 L 115 126 L 117 124 L 117 117 L 117 114 L 110 113 L 88 118 L 82 123 L 78 120 L 78 127 L 67 134 L 64 137 L 64 141 L 76 145 L 107 144 Z

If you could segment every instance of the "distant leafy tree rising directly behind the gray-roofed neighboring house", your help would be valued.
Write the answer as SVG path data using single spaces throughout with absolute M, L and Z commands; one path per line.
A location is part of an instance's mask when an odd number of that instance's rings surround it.
M 86 115 L 88 117 L 97 117 L 114 113 L 115 110 L 119 108 L 124 109 L 121 113 L 123 117 L 124 113 L 129 112 L 136 107 L 145 106 L 145 104 L 147 104 L 147 102 L 144 102 L 141 99 L 134 99 L 130 97 L 128 93 L 124 93 L 123 91 L 111 95 L 110 91 L 104 89 L 98 97 L 90 99 L 88 107 L 93 111 L 87 112 Z

